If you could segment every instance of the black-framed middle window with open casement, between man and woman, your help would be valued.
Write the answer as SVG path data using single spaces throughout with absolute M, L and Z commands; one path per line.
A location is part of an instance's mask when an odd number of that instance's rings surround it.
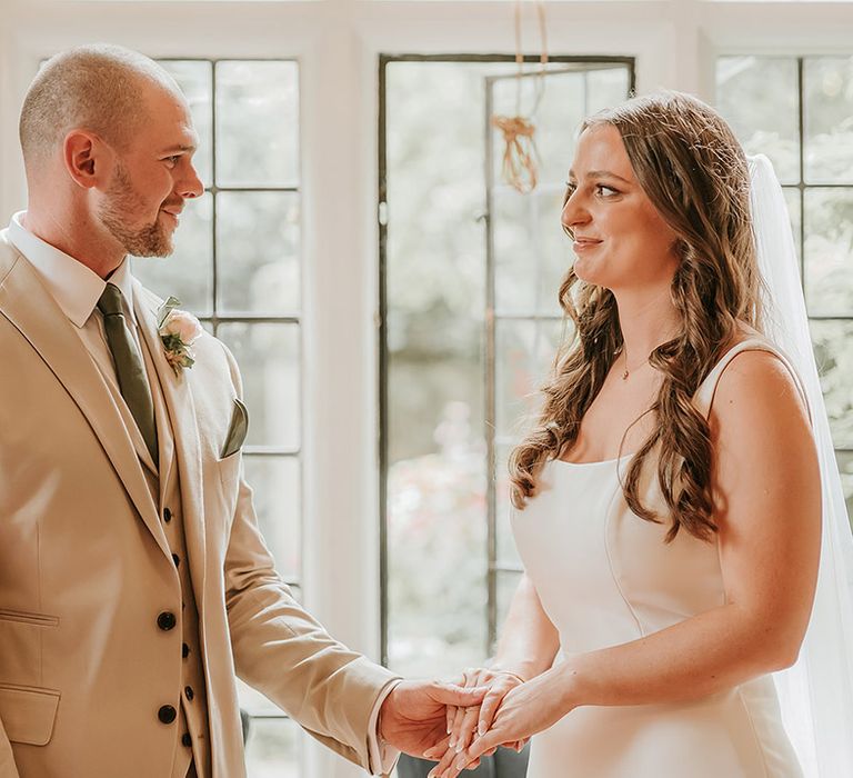
M 628 96 L 632 61 L 559 57 L 519 79 L 508 57 L 383 58 L 380 82 L 384 656 L 453 674 L 489 656 L 518 580 L 506 456 L 562 335 L 573 137 Z M 502 182 L 489 123 L 516 96 L 538 104 L 528 196 Z

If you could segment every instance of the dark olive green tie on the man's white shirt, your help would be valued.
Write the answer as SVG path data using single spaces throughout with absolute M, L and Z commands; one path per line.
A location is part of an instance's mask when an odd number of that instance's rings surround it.
M 108 283 L 98 300 L 98 308 L 103 313 L 103 328 L 107 332 L 107 345 L 112 352 L 116 363 L 116 375 L 119 389 L 124 402 L 142 432 L 151 459 L 157 466 L 157 425 L 154 422 L 154 403 L 151 399 L 151 387 L 148 385 L 142 356 L 133 342 L 124 313 L 121 309 L 121 291 L 114 283 Z

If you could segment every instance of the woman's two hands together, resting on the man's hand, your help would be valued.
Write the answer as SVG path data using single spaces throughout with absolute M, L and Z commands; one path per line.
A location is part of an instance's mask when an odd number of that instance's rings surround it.
M 499 670 L 464 674 L 465 686 L 480 686 L 483 681 L 491 685 L 476 714 L 478 736 L 469 746 L 474 720 L 472 709 L 456 712 L 449 747 L 430 771 L 430 778 L 455 778 L 463 769 L 476 767 L 481 757 L 493 754 L 499 746 L 521 750 L 532 735 L 554 725 L 573 707 L 561 692 L 553 671 L 526 682 Z M 434 748 L 424 756 L 436 758 L 440 754 L 441 749 Z

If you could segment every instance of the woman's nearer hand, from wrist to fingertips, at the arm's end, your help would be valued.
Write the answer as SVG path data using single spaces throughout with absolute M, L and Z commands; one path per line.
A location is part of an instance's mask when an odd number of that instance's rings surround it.
M 549 670 L 510 690 L 501 701 L 489 731 L 478 737 L 466 751 L 459 754 L 443 774 L 433 771 L 434 775 L 455 778 L 465 767 L 494 751 L 498 746 L 526 740 L 556 724 L 574 708 L 561 681 L 559 674 Z

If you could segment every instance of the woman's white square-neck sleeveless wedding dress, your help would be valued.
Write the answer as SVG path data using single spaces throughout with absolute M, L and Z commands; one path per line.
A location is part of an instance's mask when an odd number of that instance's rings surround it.
M 694 403 L 705 416 L 722 371 L 746 349 L 776 353 L 800 385 L 769 341 L 751 338 L 699 388 Z M 664 543 L 665 523 L 628 508 L 619 472 L 629 460 L 549 461 L 540 493 L 512 513 L 524 568 L 560 634 L 555 662 L 636 640 L 724 601 L 716 542 L 682 530 Z M 641 495 L 665 516 L 654 473 L 646 468 Z M 576 708 L 533 738 L 528 768 L 528 778 L 800 776 L 771 676 L 676 705 Z

